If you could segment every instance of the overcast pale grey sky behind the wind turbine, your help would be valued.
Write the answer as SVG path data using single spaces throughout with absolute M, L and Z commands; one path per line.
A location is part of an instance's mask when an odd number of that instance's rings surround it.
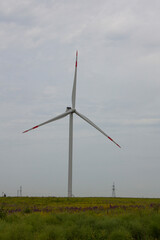
M 71 105 L 73 194 L 160 197 L 160 1 L 0 2 L 0 191 L 67 196 Z

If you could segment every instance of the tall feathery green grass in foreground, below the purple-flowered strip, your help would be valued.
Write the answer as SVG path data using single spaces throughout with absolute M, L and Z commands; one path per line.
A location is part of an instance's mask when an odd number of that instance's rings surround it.
M 155 240 L 160 239 L 160 215 L 12 214 L 0 219 L 0 239 Z

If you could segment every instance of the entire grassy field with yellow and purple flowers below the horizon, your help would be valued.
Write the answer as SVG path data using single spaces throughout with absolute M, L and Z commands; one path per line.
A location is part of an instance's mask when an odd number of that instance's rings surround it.
M 0 240 L 160 239 L 160 199 L 0 198 Z

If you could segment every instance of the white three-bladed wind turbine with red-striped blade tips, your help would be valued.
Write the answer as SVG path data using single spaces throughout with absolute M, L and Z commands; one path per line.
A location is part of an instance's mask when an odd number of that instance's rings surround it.
M 41 127 L 45 124 L 59 120 L 61 118 L 66 117 L 67 115 L 69 115 L 68 197 L 72 197 L 72 156 L 73 156 L 73 114 L 74 113 L 77 114 L 79 117 L 81 117 L 86 122 L 88 122 L 91 126 L 96 128 L 98 131 L 100 131 L 103 135 L 105 135 L 109 140 L 111 140 L 113 143 L 115 143 L 120 148 L 120 146 L 112 138 L 110 138 L 105 132 L 103 132 L 98 126 L 96 126 L 96 124 L 94 124 L 91 120 L 89 120 L 87 117 L 85 117 L 81 113 L 77 112 L 77 110 L 75 109 L 76 83 L 77 83 L 77 61 L 78 61 L 78 51 L 76 52 L 75 73 L 74 73 L 74 82 L 73 82 L 73 89 L 72 89 L 72 107 L 67 107 L 66 111 L 64 113 L 58 115 L 57 117 L 54 117 L 46 122 L 36 125 L 36 126 L 23 132 L 23 133 L 26 133 L 35 128 Z

